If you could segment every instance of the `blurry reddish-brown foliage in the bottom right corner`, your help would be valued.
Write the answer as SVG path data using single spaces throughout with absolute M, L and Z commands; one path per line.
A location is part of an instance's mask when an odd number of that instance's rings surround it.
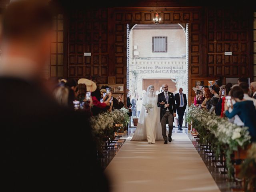
M 256 143 L 248 150 L 246 160 L 242 163 L 240 178 L 244 178 L 244 191 L 256 191 Z

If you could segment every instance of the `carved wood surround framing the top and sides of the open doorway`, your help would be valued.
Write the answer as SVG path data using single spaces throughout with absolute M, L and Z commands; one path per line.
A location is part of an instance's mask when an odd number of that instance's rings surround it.
M 156 10 L 150 8 L 109 8 L 109 75 L 124 83 L 126 91 L 126 24 L 152 24 Z M 189 23 L 189 82 L 190 77 L 206 75 L 206 31 L 201 8 L 159 8 L 161 23 Z M 114 31 L 113 31 L 114 28 Z M 114 54 L 113 54 L 114 53 Z M 202 64 L 203 63 L 203 64 Z M 113 66 L 114 65 L 114 66 Z M 114 72 L 114 74 L 113 74 Z M 191 90 L 193 85 L 189 84 Z M 190 92 L 188 98 L 190 98 Z M 190 102 L 189 102 L 190 103 Z

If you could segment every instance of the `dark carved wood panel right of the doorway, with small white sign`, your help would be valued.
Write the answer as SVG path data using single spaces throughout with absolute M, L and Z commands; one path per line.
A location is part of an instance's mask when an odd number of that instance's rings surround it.
M 239 8 L 207 9 L 207 75 L 249 77 L 249 13 Z M 232 52 L 232 56 L 224 52 Z

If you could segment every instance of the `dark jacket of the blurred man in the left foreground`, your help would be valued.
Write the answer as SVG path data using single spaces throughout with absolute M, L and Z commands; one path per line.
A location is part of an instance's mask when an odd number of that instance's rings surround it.
M 59 106 L 35 81 L 0 77 L 0 87 L 2 188 L 108 190 L 88 116 Z

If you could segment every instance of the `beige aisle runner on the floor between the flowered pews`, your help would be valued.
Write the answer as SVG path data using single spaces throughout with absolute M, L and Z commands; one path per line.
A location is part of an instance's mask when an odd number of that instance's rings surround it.
M 106 168 L 113 192 L 220 192 L 188 136 L 126 141 Z

